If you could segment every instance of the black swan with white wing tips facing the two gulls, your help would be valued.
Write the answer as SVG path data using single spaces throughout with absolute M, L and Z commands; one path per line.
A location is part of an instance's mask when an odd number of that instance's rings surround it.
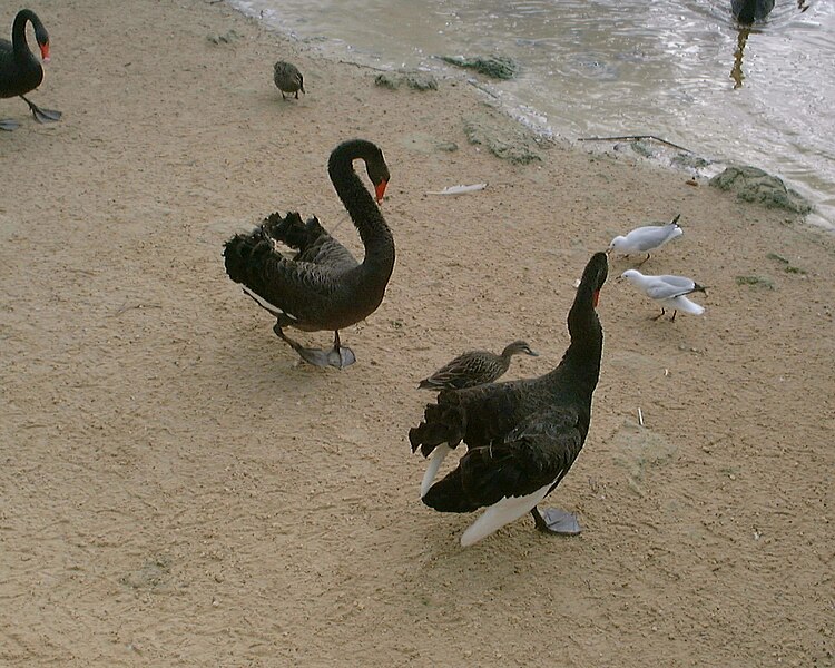
M 573 514 L 541 513 L 537 504 L 568 473 L 589 431 L 603 346 L 595 308 L 607 275 L 606 254 L 595 254 L 568 314 L 571 344 L 557 369 L 537 379 L 444 390 L 426 406 L 423 422 L 409 431 L 412 451 L 432 455 L 421 485 L 426 505 L 441 512 L 487 507 L 464 531 L 462 546 L 528 512 L 541 531 L 579 533 Z M 461 441 L 466 454 L 432 484 L 441 461 Z

